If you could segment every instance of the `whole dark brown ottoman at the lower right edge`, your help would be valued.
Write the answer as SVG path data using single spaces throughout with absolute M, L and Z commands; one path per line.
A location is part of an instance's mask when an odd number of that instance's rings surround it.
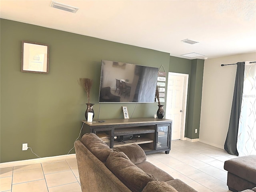
M 228 189 L 238 192 L 256 186 L 256 155 L 237 157 L 225 161 L 224 169 L 228 171 Z

